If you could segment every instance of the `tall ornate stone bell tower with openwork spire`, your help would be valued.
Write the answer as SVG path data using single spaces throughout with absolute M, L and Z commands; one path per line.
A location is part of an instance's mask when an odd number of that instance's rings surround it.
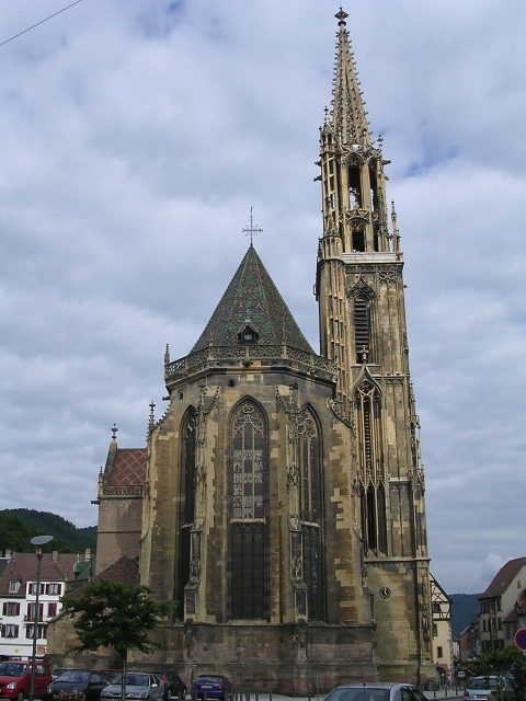
M 316 179 L 323 212 L 316 284 L 321 354 L 336 365 L 331 406 L 351 429 L 352 508 L 364 582 L 375 594 L 377 654 L 392 665 L 402 658 L 392 641 L 409 621 L 412 641 L 405 642 L 423 669 L 431 664 L 431 588 L 403 256 L 393 205 L 390 220 L 388 214 L 389 161 L 381 137 L 371 139 L 348 15 L 340 9 L 335 16 L 332 110 L 320 128 Z

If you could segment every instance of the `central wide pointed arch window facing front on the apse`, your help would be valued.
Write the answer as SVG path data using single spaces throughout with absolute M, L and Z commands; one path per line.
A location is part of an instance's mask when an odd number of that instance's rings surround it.
M 233 414 L 231 435 L 230 616 L 268 616 L 266 424 L 247 401 Z

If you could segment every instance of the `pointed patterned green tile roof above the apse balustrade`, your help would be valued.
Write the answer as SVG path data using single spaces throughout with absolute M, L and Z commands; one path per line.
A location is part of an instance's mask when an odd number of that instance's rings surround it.
M 252 245 L 191 353 L 209 344 L 239 345 L 238 333 L 248 320 L 258 332 L 259 345 L 289 345 L 313 353 Z

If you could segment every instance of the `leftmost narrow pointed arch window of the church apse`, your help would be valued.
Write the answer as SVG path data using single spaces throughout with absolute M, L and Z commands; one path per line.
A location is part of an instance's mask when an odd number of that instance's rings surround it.
M 196 414 L 191 409 L 183 420 L 181 436 L 181 506 L 178 562 L 178 618 L 184 617 L 184 587 L 190 582 L 191 530 L 195 519 Z

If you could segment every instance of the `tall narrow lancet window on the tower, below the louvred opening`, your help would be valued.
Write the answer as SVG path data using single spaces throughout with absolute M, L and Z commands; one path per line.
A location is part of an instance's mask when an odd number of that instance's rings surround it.
M 355 393 L 362 537 L 366 553 L 387 553 L 381 395 L 364 379 Z

